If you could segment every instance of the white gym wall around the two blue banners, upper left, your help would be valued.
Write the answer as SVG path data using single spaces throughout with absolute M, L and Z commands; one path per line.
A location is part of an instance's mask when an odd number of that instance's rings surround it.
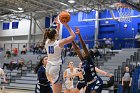
M 38 19 L 36 22 L 38 25 L 35 25 L 34 20 L 32 22 L 31 42 L 38 42 L 42 39 L 41 29 L 45 28 L 45 18 Z M 27 43 L 28 33 L 30 31 L 30 20 L 22 19 L 19 21 L 18 29 L 12 29 L 12 22 L 9 23 L 10 27 L 7 30 L 3 30 L 3 23 L 0 23 L 0 47 L 4 47 L 4 43 Z M 6 44 L 6 48 L 10 47 L 11 44 Z M 13 47 L 17 47 L 17 44 L 13 44 Z

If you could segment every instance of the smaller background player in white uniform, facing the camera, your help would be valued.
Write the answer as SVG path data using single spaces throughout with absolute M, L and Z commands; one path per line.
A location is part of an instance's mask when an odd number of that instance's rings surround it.
M 74 93 L 73 79 L 77 76 L 77 68 L 74 68 L 74 63 L 68 63 L 68 69 L 64 71 L 65 90 L 64 93 Z

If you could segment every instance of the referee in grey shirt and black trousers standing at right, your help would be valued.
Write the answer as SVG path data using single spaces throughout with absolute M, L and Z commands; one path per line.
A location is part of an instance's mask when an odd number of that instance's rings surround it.
M 123 93 L 130 93 L 131 83 L 132 83 L 132 74 L 129 70 L 129 67 L 126 66 L 122 77 Z

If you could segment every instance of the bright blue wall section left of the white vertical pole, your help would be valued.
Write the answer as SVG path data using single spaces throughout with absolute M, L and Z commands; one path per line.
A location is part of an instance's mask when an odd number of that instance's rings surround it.
M 95 11 L 94 11 L 95 12 Z M 95 14 L 95 13 L 94 13 Z M 93 18 L 95 15 L 88 14 L 88 18 Z M 89 45 L 89 48 L 93 48 L 94 42 L 89 42 L 88 40 L 94 40 L 94 31 L 95 31 L 95 22 L 94 21 L 89 21 L 89 22 L 80 22 L 78 21 L 78 14 L 71 14 L 71 20 L 68 23 L 70 27 L 75 31 L 75 27 L 80 28 L 81 35 L 83 37 L 86 44 Z M 62 37 L 66 38 L 69 36 L 69 32 L 65 27 L 63 27 L 62 30 Z M 75 40 L 79 40 L 78 36 L 76 36 Z

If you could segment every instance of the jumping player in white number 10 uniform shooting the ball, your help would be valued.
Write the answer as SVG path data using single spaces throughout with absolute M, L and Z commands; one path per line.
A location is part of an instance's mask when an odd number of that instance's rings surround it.
M 48 29 L 44 34 L 44 37 L 47 38 L 45 48 L 48 54 L 46 75 L 49 81 L 52 82 L 53 93 L 61 93 L 62 90 L 62 48 L 64 47 L 64 45 L 70 43 L 75 38 L 75 33 L 69 27 L 69 25 L 67 23 L 63 23 L 63 25 L 67 28 L 67 30 L 70 33 L 70 36 L 65 39 L 57 40 L 58 29 Z

